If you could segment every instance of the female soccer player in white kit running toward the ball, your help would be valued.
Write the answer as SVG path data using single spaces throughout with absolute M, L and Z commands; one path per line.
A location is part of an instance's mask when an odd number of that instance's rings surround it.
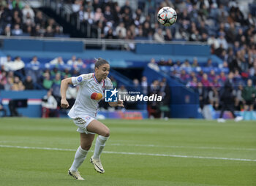
M 75 159 L 69 168 L 68 174 L 75 179 L 84 180 L 78 172 L 78 167 L 85 160 L 95 133 L 97 137 L 94 149 L 94 155 L 90 161 L 99 173 L 104 173 L 104 168 L 100 161 L 100 154 L 105 147 L 105 142 L 110 136 L 109 128 L 103 123 L 96 120 L 98 103 L 102 99 L 105 89 L 112 89 L 113 85 L 108 78 L 110 65 L 108 61 L 102 58 L 97 59 L 94 73 L 82 74 L 78 77 L 69 77 L 61 81 L 61 107 L 68 108 L 69 103 L 66 99 L 68 85 L 80 85 L 78 96 L 74 106 L 70 109 L 68 115 L 78 126 L 80 133 L 80 147 L 75 152 Z M 110 106 L 124 106 L 123 101 L 109 102 Z

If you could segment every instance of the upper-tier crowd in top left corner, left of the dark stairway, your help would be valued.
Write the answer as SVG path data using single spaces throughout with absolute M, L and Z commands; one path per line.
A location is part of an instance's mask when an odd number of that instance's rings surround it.
M 3 36 L 57 36 L 63 28 L 53 18 L 20 0 L 0 1 L 0 34 Z

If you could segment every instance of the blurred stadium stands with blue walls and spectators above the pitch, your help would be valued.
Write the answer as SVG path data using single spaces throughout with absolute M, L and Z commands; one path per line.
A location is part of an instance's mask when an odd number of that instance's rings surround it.
M 162 7 L 177 22 L 157 22 Z M 163 101 L 99 103 L 98 117 L 217 119 L 225 82 L 236 115 L 256 120 L 256 1 L 0 1 L 0 115 L 67 117 L 60 84 L 110 62 L 119 93 Z M 69 87 L 72 106 L 78 88 Z M 225 112 L 224 118 L 233 118 Z

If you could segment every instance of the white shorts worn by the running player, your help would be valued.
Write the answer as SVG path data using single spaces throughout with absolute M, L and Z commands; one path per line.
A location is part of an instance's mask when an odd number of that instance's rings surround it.
M 94 117 L 91 117 L 89 115 L 80 115 L 78 117 L 72 118 L 75 125 L 78 126 L 78 132 L 79 133 L 86 133 L 89 134 L 91 132 L 87 131 L 87 126 L 91 123 L 92 120 L 95 120 Z M 95 134 L 95 133 L 91 133 Z

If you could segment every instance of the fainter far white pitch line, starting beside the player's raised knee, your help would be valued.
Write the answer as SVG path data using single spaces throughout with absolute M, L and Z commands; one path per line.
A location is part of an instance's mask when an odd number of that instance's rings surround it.
M 230 148 L 230 147 L 196 147 L 196 146 L 169 146 L 157 144 L 108 144 L 113 146 L 132 146 L 132 147 L 165 147 L 165 148 L 181 148 L 181 149 L 204 149 L 204 150 L 249 150 L 256 151 L 256 149 L 247 148 Z

